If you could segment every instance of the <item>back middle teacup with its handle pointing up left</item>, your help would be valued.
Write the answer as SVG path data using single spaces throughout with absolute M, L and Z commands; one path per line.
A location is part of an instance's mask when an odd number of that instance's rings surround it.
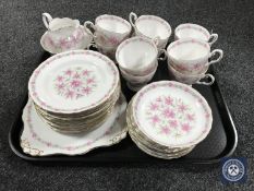
M 158 48 L 165 48 L 171 35 L 171 26 L 167 21 L 155 15 L 137 15 L 130 13 L 129 20 L 136 36 L 146 36 L 150 39 L 159 38 Z

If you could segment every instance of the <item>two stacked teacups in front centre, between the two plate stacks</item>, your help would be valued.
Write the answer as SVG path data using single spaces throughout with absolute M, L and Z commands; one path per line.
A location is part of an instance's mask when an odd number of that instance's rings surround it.
M 134 92 L 146 85 L 158 67 L 158 55 L 165 50 L 157 49 L 156 40 L 136 36 L 121 43 L 116 52 L 122 76 L 128 87 Z

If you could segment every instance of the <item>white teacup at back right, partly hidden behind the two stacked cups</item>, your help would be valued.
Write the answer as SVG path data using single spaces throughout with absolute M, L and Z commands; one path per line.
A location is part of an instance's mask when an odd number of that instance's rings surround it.
M 178 27 L 174 29 L 174 40 L 181 38 L 202 39 L 211 46 L 218 39 L 218 34 L 210 34 L 205 27 L 201 25 L 185 23 L 178 25 Z

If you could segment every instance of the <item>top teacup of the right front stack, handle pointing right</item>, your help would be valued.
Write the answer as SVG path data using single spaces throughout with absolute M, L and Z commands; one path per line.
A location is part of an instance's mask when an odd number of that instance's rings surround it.
M 213 59 L 218 55 L 218 58 Z M 181 73 L 198 74 L 213 63 L 219 62 L 223 57 L 221 49 L 210 52 L 208 43 L 194 38 L 182 38 L 171 43 L 167 48 L 168 63 Z M 210 59 L 208 61 L 208 59 Z

